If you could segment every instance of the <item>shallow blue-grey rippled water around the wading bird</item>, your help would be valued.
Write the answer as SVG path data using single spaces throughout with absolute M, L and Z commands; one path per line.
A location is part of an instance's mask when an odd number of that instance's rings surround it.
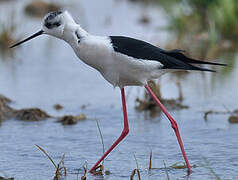
M 29 1 L 2 3 L 1 22 L 7 21 L 15 10 L 18 37 L 26 37 L 40 29 L 40 20 L 23 13 Z M 89 32 L 98 35 L 127 35 L 165 46 L 169 34 L 158 31 L 167 24 L 163 12 L 153 6 L 131 4 L 127 1 L 72 1 L 63 2 L 78 22 Z M 6 13 L 6 11 L 8 13 Z M 4 13 L 5 12 L 5 13 Z M 138 19 L 143 13 L 152 23 L 142 25 Z M 159 17 L 159 18 L 158 18 Z M 58 162 L 65 153 L 67 179 L 83 174 L 87 160 L 91 167 L 102 154 L 102 145 L 95 118 L 109 147 L 122 129 L 120 90 L 113 89 L 101 75 L 77 59 L 70 47 L 59 40 L 42 36 L 15 50 L 9 61 L 0 61 L 0 93 L 14 100 L 15 108 L 39 107 L 49 114 L 85 113 L 88 120 L 73 126 L 62 126 L 55 119 L 24 122 L 15 119 L 4 121 L 0 127 L 0 173 L 15 179 L 52 179 L 54 167 L 34 144 L 42 146 Z M 236 57 L 238 59 L 238 57 Z M 235 64 L 234 67 L 237 67 Z M 188 179 L 215 179 L 210 167 L 221 179 L 236 179 L 238 166 L 238 125 L 228 123 L 228 115 L 210 115 L 204 121 L 206 110 L 237 109 L 238 71 L 224 73 L 191 73 L 181 80 L 184 104 L 189 109 L 170 111 L 178 121 L 185 149 L 194 173 Z M 169 75 L 162 80 L 163 96 L 177 96 L 175 83 Z M 176 137 L 164 116 L 149 118 L 135 111 L 135 97 L 143 95 L 143 88 L 126 88 L 130 134 L 105 160 L 110 175 L 104 179 L 128 179 L 136 168 L 135 153 L 142 179 L 166 179 L 166 165 L 183 162 Z M 54 110 L 60 103 L 64 109 Z M 87 105 L 82 109 L 82 105 Z M 148 171 L 150 151 L 153 151 L 151 171 Z M 171 179 L 187 179 L 186 170 L 169 169 Z M 102 177 L 87 176 L 89 179 Z

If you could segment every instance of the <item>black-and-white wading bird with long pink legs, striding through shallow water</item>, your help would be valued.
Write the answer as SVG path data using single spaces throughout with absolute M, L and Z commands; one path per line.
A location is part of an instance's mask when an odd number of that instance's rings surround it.
M 95 68 L 112 86 L 121 91 L 124 127 L 121 135 L 89 170 L 93 172 L 107 155 L 128 135 L 129 122 L 125 99 L 126 86 L 144 86 L 162 112 L 167 116 L 177 137 L 188 173 L 192 172 L 177 122 L 166 110 L 148 85 L 148 81 L 158 79 L 173 71 L 208 71 L 212 69 L 196 64 L 226 64 L 196 60 L 184 54 L 183 50 L 164 50 L 148 42 L 126 36 L 96 36 L 84 30 L 76 23 L 71 14 L 64 10 L 49 12 L 42 21 L 42 28 L 32 36 L 12 45 L 14 48 L 40 35 L 50 35 L 68 43 L 78 58 Z

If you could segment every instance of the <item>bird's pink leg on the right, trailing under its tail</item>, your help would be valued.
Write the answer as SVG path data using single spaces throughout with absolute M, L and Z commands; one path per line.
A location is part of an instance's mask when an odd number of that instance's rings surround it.
M 165 115 L 168 117 L 170 123 L 171 123 L 171 126 L 172 128 L 174 129 L 175 131 L 175 134 L 177 136 L 177 139 L 178 139 L 178 143 L 179 143 L 179 146 L 180 146 L 180 149 L 182 151 L 182 154 L 183 154 L 183 157 L 184 157 L 184 160 L 186 162 L 186 165 L 187 165 L 187 168 L 188 168 L 188 173 L 190 174 L 192 172 L 191 170 L 191 166 L 188 162 L 188 158 L 185 154 L 185 151 L 184 151 L 184 147 L 183 147 L 183 142 L 182 142 L 182 139 L 181 139 L 181 136 L 179 134 L 179 129 L 178 129 L 178 125 L 177 125 L 177 122 L 170 116 L 170 114 L 168 113 L 168 111 L 166 110 L 166 108 L 164 107 L 164 105 L 159 101 L 159 99 L 155 96 L 155 94 L 153 93 L 153 91 L 150 89 L 149 85 L 145 85 L 145 88 L 147 89 L 147 91 L 150 93 L 150 95 L 152 96 L 152 98 L 155 100 L 156 104 L 161 108 L 161 110 L 165 113 Z

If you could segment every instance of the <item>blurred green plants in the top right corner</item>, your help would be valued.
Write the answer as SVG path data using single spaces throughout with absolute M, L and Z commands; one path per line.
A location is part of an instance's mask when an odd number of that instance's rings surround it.
M 168 13 L 169 29 L 178 34 L 179 40 L 185 34 L 203 34 L 203 40 L 213 47 L 224 43 L 224 40 L 237 43 L 236 0 L 170 0 L 160 5 Z

